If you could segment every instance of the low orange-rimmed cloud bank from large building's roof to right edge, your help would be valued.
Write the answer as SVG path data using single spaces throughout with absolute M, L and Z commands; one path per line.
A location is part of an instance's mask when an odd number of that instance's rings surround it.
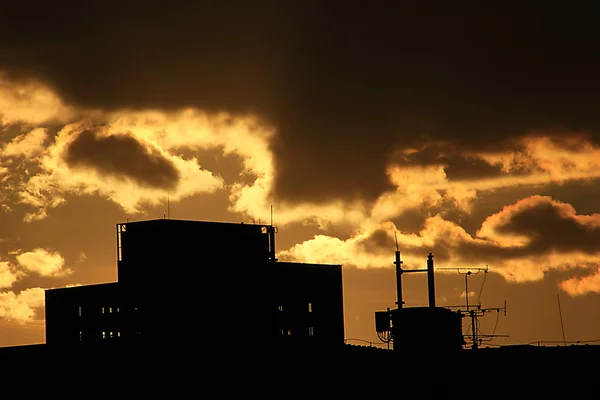
M 392 222 L 358 232 L 347 240 L 326 235 L 299 243 L 279 254 L 282 259 L 332 262 L 361 268 L 385 267 L 395 250 Z M 422 268 L 432 252 L 436 264 L 481 268 L 512 282 L 539 280 L 550 270 L 592 269 L 600 265 L 600 214 L 579 215 L 550 197 L 532 196 L 488 217 L 475 235 L 440 216 L 430 217 L 418 233 L 397 232 L 407 268 Z M 571 294 L 597 290 L 597 278 L 570 279 Z

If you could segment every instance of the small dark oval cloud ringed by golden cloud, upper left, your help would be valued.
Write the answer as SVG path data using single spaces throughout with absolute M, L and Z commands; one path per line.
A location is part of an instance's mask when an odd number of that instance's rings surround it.
M 64 158 L 70 167 L 92 168 L 150 188 L 173 189 L 179 182 L 179 171 L 170 160 L 128 135 L 103 137 L 84 131 L 70 144 Z

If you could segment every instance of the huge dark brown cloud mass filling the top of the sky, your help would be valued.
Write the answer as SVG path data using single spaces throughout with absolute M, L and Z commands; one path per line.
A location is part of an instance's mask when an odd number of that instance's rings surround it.
M 376 196 L 387 155 L 431 139 L 600 125 L 596 13 L 570 4 L 23 4 L 0 17 L 1 67 L 82 105 L 258 113 L 287 199 Z

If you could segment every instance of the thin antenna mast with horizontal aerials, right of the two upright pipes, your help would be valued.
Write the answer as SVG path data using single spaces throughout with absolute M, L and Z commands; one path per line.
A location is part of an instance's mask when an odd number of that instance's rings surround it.
M 487 273 L 489 271 L 488 266 L 485 268 L 438 268 L 440 270 L 455 270 L 459 274 L 463 274 L 465 276 L 465 305 L 463 310 L 463 306 L 448 306 L 449 308 L 458 308 L 458 312 L 464 317 L 471 318 L 471 332 L 468 335 L 465 335 L 465 339 L 468 339 L 471 342 L 471 349 L 476 350 L 482 344 L 482 342 L 490 341 L 495 337 L 507 337 L 508 335 L 496 335 L 496 327 L 498 326 L 498 318 L 500 317 L 500 312 L 504 313 L 506 316 L 506 300 L 504 301 L 504 307 L 491 307 L 491 308 L 482 308 L 481 307 L 481 292 L 483 290 L 483 285 L 485 284 L 485 278 L 487 277 Z M 469 277 L 471 275 L 478 275 L 480 272 L 484 273 L 483 282 L 481 284 L 481 289 L 479 290 L 479 295 L 477 298 L 476 305 L 469 305 Z M 497 319 L 496 324 L 494 326 L 494 331 L 491 335 L 484 334 L 479 329 L 479 320 L 478 318 L 483 317 L 485 313 L 490 311 L 496 311 Z

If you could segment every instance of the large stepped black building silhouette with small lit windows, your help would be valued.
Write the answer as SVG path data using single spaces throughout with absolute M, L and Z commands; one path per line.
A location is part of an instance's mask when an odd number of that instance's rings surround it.
M 118 282 L 47 290 L 47 345 L 343 346 L 341 265 L 277 261 L 275 229 L 118 224 Z

